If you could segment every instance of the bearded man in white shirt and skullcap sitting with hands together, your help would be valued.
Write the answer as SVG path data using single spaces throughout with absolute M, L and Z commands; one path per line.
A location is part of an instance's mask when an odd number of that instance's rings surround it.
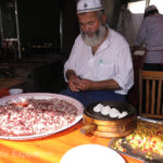
M 79 0 L 80 35 L 64 65 L 68 88 L 61 93 L 85 106 L 97 101 L 125 101 L 134 84 L 128 43 L 111 29 L 100 0 Z

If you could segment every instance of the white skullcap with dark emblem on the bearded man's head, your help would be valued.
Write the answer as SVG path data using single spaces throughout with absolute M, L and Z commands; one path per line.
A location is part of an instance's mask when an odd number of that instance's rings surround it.
M 103 10 L 100 0 L 79 0 L 77 3 L 77 13 Z

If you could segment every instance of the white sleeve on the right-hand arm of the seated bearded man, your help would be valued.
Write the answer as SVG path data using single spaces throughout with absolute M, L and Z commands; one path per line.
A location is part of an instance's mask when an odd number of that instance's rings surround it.
M 118 50 L 115 62 L 116 75 L 115 77 L 113 77 L 113 79 L 117 82 L 117 84 L 122 88 L 121 90 L 115 90 L 115 92 L 124 95 L 127 93 L 134 85 L 133 59 L 129 46 L 127 43 L 122 46 L 122 48 Z

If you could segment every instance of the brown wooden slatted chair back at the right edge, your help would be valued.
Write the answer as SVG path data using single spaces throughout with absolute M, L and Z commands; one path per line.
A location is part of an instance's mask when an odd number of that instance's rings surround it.
M 139 115 L 163 118 L 163 72 L 139 72 Z

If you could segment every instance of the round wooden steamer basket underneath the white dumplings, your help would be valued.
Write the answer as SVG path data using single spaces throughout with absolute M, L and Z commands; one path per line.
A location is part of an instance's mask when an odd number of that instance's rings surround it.
M 127 111 L 128 115 L 123 118 L 113 118 L 109 115 L 96 113 L 93 112 L 93 108 L 99 103 L 116 108 L 120 112 Z M 84 134 L 90 133 L 106 138 L 124 137 L 136 129 L 137 114 L 135 108 L 126 102 L 96 102 L 84 110 L 83 123 L 84 127 L 82 128 L 82 131 Z

